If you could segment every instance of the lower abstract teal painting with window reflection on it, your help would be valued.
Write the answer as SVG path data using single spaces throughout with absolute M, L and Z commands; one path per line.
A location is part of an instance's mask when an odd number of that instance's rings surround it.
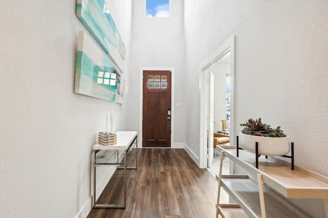
M 121 75 L 106 53 L 79 31 L 74 93 L 122 103 Z

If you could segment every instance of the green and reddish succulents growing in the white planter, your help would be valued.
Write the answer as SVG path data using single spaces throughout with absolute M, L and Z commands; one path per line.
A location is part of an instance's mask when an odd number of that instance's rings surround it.
M 272 129 L 270 125 L 263 124 L 261 118 L 256 120 L 249 119 L 245 124 L 240 124 L 245 127 L 241 132 L 247 135 L 264 136 L 264 137 L 286 137 L 280 126 Z

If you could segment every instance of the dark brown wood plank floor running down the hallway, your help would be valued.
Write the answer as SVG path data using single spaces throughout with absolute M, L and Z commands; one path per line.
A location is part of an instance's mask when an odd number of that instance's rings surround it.
M 129 161 L 135 161 L 135 152 Z M 217 188 L 213 176 L 184 149 L 138 149 L 138 169 L 127 173 L 126 209 L 93 208 L 87 218 L 215 217 Z M 97 203 L 121 204 L 122 190 L 123 171 L 118 169 Z M 227 193 L 221 193 L 221 200 L 228 202 Z

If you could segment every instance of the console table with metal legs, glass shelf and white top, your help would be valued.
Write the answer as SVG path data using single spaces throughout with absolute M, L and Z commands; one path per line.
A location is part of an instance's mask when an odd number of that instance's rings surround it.
M 137 169 L 137 138 L 136 131 L 116 132 L 117 143 L 109 146 L 95 144 L 93 146 L 94 171 L 93 171 L 93 197 L 92 206 L 94 208 L 126 208 L 126 186 L 127 169 Z M 132 149 L 136 149 L 135 166 L 127 167 L 127 158 Z M 96 204 L 96 168 L 97 166 L 117 166 L 118 169 L 124 169 L 124 203 L 123 204 Z

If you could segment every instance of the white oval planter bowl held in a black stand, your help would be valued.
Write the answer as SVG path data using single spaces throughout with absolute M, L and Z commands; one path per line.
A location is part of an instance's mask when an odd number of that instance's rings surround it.
M 291 149 L 289 137 L 262 137 L 239 133 L 238 146 L 242 149 L 255 154 L 255 142 L 258 142 L 260 155 L 282 156 Z

